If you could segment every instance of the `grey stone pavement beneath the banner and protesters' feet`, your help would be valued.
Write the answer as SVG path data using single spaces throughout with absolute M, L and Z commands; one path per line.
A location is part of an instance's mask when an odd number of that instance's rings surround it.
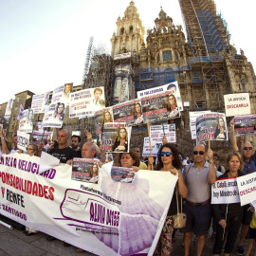
M 22 230 L 8 229 L 0 225 L 0 256 L 95 255 L 89 252 L 76 253 L 76 247 L 64 247 L 64 243 L 59 240 L 48 242 L 46 241 L 46 236 L 46 234 L 41 232 L 32 236 L 26 236 Z M 181 246 L 183 235 L 177 230 L 175 236 L 176 242 L 174 243 L 174 253 L 172 255 L 182 256 L 184 253 L 184 249 Z M 196 246 L 193 241 L 194 238 L 192 238 L 191 256 L 196 255 Z M 248 240 L 246 240 L 245 248 L 247 248 L 247 243 Z M 212 245 L 211 238 L 208 236 L 202 256 L 212 255 Z M 236 245 L 237 243 L 235 244 L 235 247 Z M 230 255 L 237 255 L 236 250 L 234 249 Z M 253 255 L 253 251 L 250 255 Z

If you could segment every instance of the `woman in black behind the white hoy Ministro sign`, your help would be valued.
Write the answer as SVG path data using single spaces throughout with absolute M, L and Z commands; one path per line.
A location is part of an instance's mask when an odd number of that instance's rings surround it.
M 229 170 L 218 179 L 235 178 L 242 176 L 241 170 L 244 168 L 242 156 L 238 152 L 227 156 Z M 229 181 L 231 181 L 229 179 Z M 222 251 L 225 237 L 228 233 L 224 254 L 229 255 L 233 250 L 238 231 L 241 226 L 244 207 L 239 203 L 233 204 L 213 204 L 214 215 L 217 221 L 216 238 L 212 249 L 213 255 L 219 255 Z

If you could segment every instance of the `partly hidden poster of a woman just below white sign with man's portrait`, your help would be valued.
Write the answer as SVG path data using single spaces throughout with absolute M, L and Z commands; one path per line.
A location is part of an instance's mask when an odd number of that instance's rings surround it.
M 94 114 L 94 124 L 96 135 L 103 133 L 104 123 L 113 122 L 112 107 L 103 108 Z

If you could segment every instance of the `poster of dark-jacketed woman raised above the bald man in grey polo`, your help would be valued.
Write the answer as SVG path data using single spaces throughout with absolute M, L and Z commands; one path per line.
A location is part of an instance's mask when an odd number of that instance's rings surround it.
M 196 144 L 207 140 L 228 140 L 225 114 L 210 112 L 196 119 Z

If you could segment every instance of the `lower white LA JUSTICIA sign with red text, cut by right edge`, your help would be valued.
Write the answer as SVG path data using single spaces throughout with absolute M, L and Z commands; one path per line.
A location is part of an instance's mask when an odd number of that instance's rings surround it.
M 256 198 L 256 173 L 237 177 L 236 180 L 241 206 L 245 206 L 254 201 Z

